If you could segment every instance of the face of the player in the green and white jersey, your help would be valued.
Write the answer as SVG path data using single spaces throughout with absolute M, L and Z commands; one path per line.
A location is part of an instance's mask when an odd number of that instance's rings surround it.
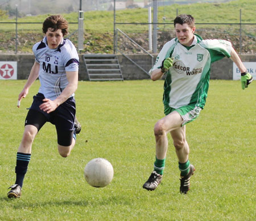
M 193 42 L 193 34 L 196 30 L 196 27 L 193 28 L 189 27 L 187 23 L 184 24 L 175 24 L 175 32 L 176 37 L 179 42 L 185 46 L 190 46 Z

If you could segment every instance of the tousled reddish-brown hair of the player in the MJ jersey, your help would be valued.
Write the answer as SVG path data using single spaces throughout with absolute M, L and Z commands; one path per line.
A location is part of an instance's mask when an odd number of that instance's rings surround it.
M 51 15 L 43 22 L 43 33 L 46 34 L 48 28 L 52 28 L 53 31 L 61 29 L 64 35 L 68 34 L 68 22 L 62 15 Z

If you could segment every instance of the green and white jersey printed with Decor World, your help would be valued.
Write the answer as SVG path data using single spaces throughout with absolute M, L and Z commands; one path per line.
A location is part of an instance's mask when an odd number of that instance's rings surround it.
M 202 40 L 194 35 L 191 46 L 185 47 L 177 38 L 164 44 L 153 70 L 160 68 L 164 59 L 174 57 L 172 68 L 164 81 L 163 103 L 177 109 L 186 105 L 204 108 L 209 87 L 210 64 L 230 57 L 232 45 L 226 40 Z

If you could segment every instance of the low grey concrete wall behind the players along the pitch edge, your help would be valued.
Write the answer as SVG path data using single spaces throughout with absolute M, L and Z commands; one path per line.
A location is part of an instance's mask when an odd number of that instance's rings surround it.
M 157 55 L 154 55 L 156 58 Z M 142 80 L 150 79 L 148 74 L 139 69 L 130 60 L 122 55 L 117 55 L 123 78 L 125 80 Z M 147 55 L 129 55 L 129 57 L 141 65 L 143 69 L 150 70 L 151 59 Z M 256 55 L 241 55 L 241 59 L 244 62 L 255 62 Z M 34 55 L 0 55 L 0 61 L 17 61 L 18 79 L 27 79 L 30 74 L 32 65 L 34 64 Z M 233 78 L 233 61 L 231 59 L 224 58 L 220 61 L 214 62 L 211 68 L 210 79 L 223 79 L 232 80 Z M 79 80 L 88 80 L 88 74 L 85 70 L 84 60 L 80 55 L 79 66 Z

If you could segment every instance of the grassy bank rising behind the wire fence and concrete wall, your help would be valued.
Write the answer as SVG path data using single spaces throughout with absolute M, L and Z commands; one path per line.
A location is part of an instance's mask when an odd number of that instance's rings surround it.
M 192 14 L 196 23 L 239 23 L 240 9 L 242 9 L 242 23 L 256 23 L 255 18 L 255 4 L 253 0 L 231 1 L 227 3 L 194 3 L 191 5 L 171 5 L 158 8 L 158 22 L 172 23 L 176 10 L 179 14 Z M 39 22 L 48 15 L 27 16 L 19 18 L 18 22 Z M 71 14 L 64 14 L 64 17 L 69 23 L 77 22 L 77 12 Z M 123 23 L 147 23 L 147 9 L 126 9 L 116 11 L 116 22 Z M 163 20 L 165 18 L 165 20 Z M 86 11 L 84 13 L 84 33 L 85 49 L 83 52 L 88 53 L 112 53 L 113 52 L 113 11 Z M 4 19 L 1 22 L 15 22 L 14 19 Z M 125 31 L 136 41 L 138 35 L 147 35 L 147 25 L 122 25 L 117 24 L 117 28 Z M 200 28 L 214 29 L 215 37 L 229 30 L 231 35 L 234 32 L 239 34 L 240 26 L 207 26 L 201 25 Z M 255 41 L 255 27 L 243 26 L 243 35 L 252 36 L 252 43 Z M 159 25 L 159 31 L 172 30 L 172 25 Z M 77 24 L 70 24 L 69 36 L 75 45 L 77 44 Z M 15 49 L 15 24 L 1 24 L 0 28 L 0 51 L 8 52 Z M 237 34 L 237 35 L 238 35 Z M 19 24 L 18 37 L 20 52 L 31 53 L 31 46 L 34 42 L 42 39 L 42 24 Z M 237 37 L 237 36 L 236 36 Z M 143 36 L 145 39 L 146 37 Z M 239 39 L 239 37 L 237 37 Z M 164 39 L 166 41 L 166 39 Z M 245 37 L 244 41 L 248 41 Z M 254 50 L 254 49 L 251 49 Z M 250 51 L 250 50 L 249 50 Z

